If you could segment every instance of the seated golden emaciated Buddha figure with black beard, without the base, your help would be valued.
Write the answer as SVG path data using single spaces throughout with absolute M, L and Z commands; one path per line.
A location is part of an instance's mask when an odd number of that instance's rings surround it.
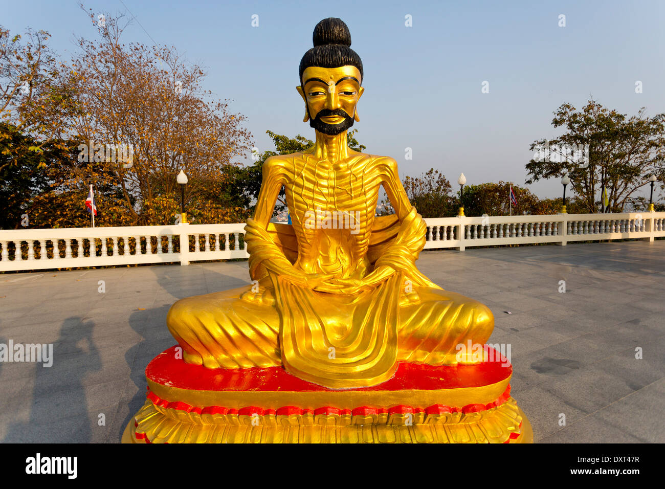
M 456 347 L 484 344 L 492 313 L 416 268 L 426 225 L 395 160 L 356 152 L 346 141 L 364 92 L 348 28 L 325 19 L 313 40 L 297 90 L 316 143 L 263 165 L 245 227 L 252 285 L 181 299 L 170 309 L 168 328 L 184 361 L 208 369 L 282 366 L 332 389 L 383 383 L 398 362 L 471 363 Z M 270 223 L 282 186 L 293 226 Z M 375 216 L 381 186 L 392 216 Z

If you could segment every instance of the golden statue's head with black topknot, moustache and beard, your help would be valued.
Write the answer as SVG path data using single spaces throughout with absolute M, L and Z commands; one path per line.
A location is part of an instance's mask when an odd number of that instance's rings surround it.
M 300 62 L 298 92 L 305 100 L 303 122 L 323 134 L 348 130 L 358 118 L 364 88 L 362 61 L 350 48 L 351 34 L 340 19 L 323 19 L 314 28 L 314 47 Z

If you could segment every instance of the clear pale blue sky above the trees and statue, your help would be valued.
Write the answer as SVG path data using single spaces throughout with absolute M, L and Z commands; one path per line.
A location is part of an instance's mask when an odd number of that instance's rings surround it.
M 201 65 L 204 88 L 233 99 L 231 111 L 247 116 L 261 151 L 272 149 L 266 130 L 313 138 L 295 86 L 313 28 L 325 17 L 347 23 L 364 65 L 358 140 L 367 152 L 395 158 L 402 177 L 433 167 L 454 186 L 460 172 L 468 184 L 523 185 L 529 144 L 560 134 L 551 120 L 563 102 L 581 108 L 593 96 L 629 115 L 642 106 L 650 116 L 665 112 L 659 0 L 123 1 L 84 5 L 136 16 L 124 43 L 152 44 L 152 37 Z M 96 36 L 78 1 L 0 5 L 1 25 L 12 33 L 45 29 L 60 54 L 76 50 L 75 35 Z M 259 27 L 251 26 L 252 15 Z M 483 81 L 489 93 L 481 93 Z M 540 197 L 561 194 L 558 180 L 529 188 Z

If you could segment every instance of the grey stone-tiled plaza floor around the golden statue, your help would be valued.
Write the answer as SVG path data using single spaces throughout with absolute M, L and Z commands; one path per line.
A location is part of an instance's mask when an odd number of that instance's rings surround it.
M 536 442 L 665 442 L 665 241 L 433 250 L 417 265 L 491 307 Z M 0 343 L 53 343 L 50 368 L 0 363 L 0 440 L 119 442 L 146 365 L 175 343 L 172 303 L 247 283 L 247 261 L 0 275 Z

